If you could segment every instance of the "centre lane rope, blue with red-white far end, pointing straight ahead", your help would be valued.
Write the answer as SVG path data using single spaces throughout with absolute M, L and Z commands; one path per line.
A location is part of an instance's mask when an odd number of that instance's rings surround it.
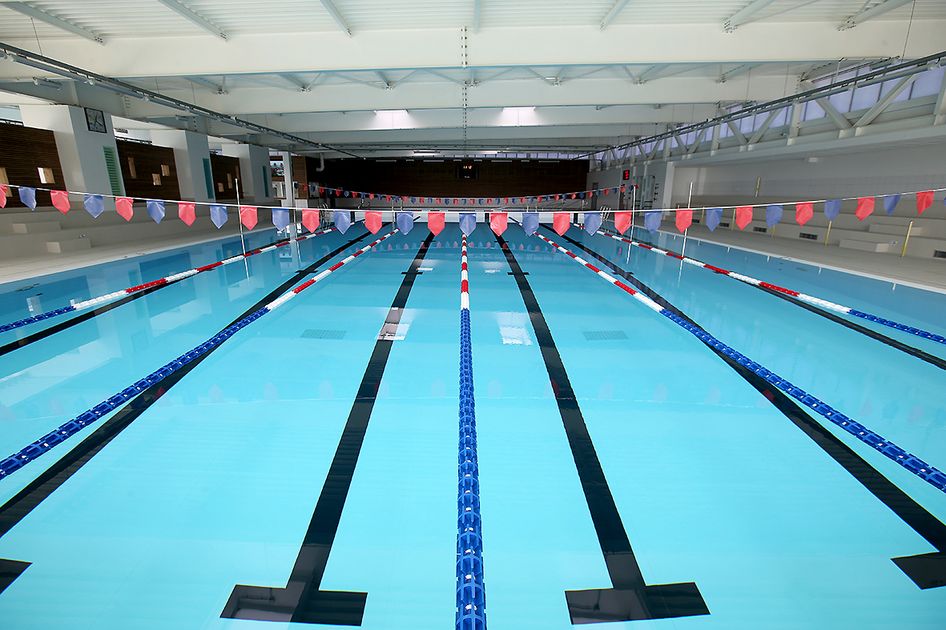
M 486 630 L 483 581 L 483 528 L 479 466 L 476 457 L 476 409 L 473 398 L 473 346 L 466 236 L 460 263 L 460 454 L 457 483 L 457 630 Z

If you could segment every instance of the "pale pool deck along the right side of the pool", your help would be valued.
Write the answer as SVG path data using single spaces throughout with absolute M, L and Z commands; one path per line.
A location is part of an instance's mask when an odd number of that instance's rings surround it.
M 676 230 L 661 230 L 661 232 L 680 236 Z M 635 234 L 644 236 L 647 233 L 635 230 Z M 836 245 L 825 247 L 820 243 L 780 239 L 725 228 L 710 232 L 704 226 L 692 226 L 688 231 L 688 236 L 691 239 L 736 247 L 764 256 L 777 256 L 785 260 L 853 273 L 891 284 L 946 293 L 946 260 L 900 258 L 895 254 L 862 252 L 843 249 Z

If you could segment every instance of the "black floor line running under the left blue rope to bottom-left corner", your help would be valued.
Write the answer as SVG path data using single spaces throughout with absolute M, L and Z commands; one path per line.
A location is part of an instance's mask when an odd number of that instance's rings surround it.
M 232 326 L 244 317 L 255 313 L 264 305 L 272 302 L 291 289 L 299 280 L 313 273 L 318 267 L 324 265 L 338 254 L 368 236 L 370 236 L 370 234 L 365 232 L 363 235 L 351 239 L 344 245 L 326 254 L 305 269 L 296 272 L 281 285 L 262 297 L 256 304 L 245 310 L 242 314 L 237 315 L 236 319 L 230 322 L 228 326 Z M 226 328 L 226 326 L 224 328 Z M 63 455 L 55 464 L 46 469 L 9 501 L 0 506 L 0 536 L 4 536 L 8 531 L 13 529 L 17 523 L 23 520 L 40 503 L 45 501 L 46 497 L 55 492 L 56 489 L 64 484 L 72 475 L 77 473 L 80 468 L 85 466 L 99 451 L 105 448 L 119 433 L 128 428 L 148 407 L 157 402 L 161 396 L 166 394 L 169 389 L 174 387 L 174 385 L 191 370 L 200 365 L 204 359 L 213 354 L 222 345 L 223 344 L 211 348 L 163 381 L 155 383 L 141 392 L 141 394 L 116 412 L 115 415 L 99 425 L 84 440 L 79 442 L 75 448 Z M 2 593 L 13 580 L 19 577 L 28 566 L 29 563 L 27 562 L 4 560 L 0 558 L 0 593 Z

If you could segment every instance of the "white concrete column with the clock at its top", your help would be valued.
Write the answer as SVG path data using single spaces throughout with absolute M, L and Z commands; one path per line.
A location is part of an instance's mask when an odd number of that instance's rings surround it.
M 89 131 L 85 109 L 73 105 L 21 105 L 20 116 L 27 127 L 53 132 L 66 180 L 62 186 L 81 192 L 125 194 L 110 115 L 103 114 L 104 133 Z M 114 158 L 111 177 L 107 156 Z

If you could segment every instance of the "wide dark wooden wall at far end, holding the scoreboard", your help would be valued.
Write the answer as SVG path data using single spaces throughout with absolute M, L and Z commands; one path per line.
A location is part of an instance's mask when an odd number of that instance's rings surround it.
M 365 192 L 437 197 L 502 197 L 571 192 L 585 189 L 586 160 L 497 161 L 446 160 L 326 160 L 317 173 L 318 160 L 310 160 L 309 181 Z M 469 163 L 475 179 L 460 177 L 461 164 Z

